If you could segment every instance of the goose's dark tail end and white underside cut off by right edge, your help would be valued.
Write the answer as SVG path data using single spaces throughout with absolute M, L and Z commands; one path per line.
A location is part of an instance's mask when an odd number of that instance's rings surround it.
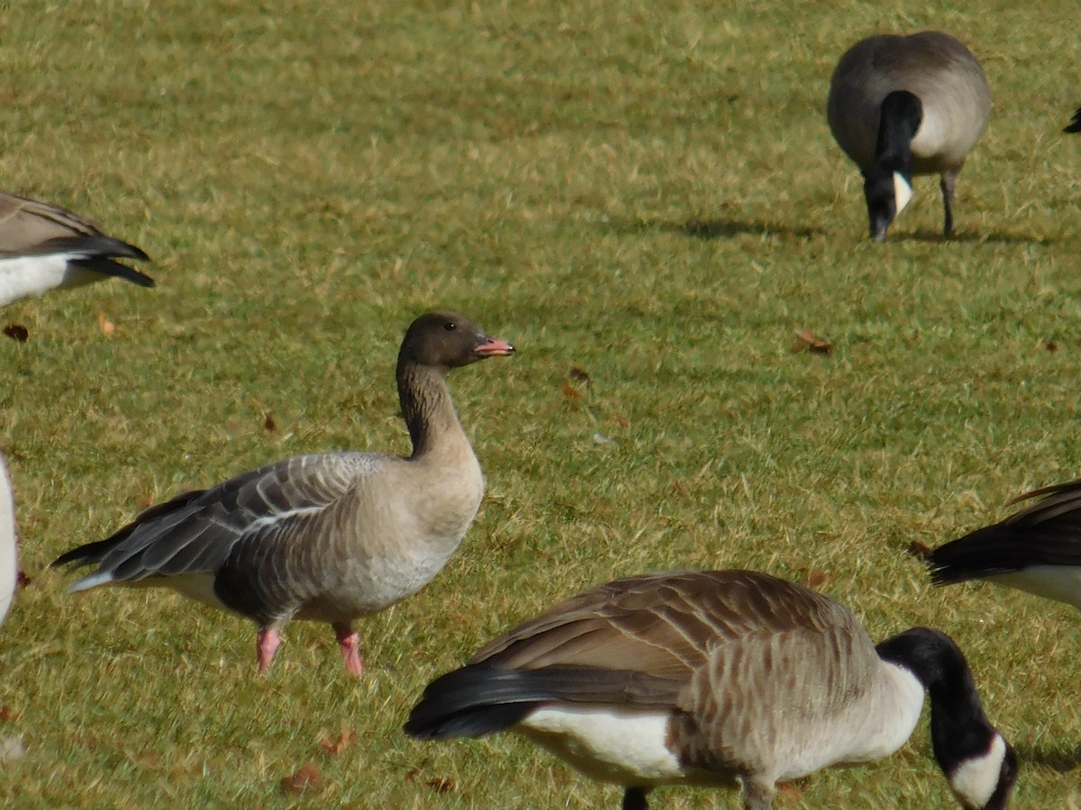
M 1040 500 L 935 549 L 926 558 L 932 581 L 984 579 L 1081 608 L 1081 480 L 1011 503 L 1030 498 Z

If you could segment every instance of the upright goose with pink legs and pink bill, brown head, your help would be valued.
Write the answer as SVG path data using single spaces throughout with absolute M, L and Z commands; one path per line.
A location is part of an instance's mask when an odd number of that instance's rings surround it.
M 98 566 L 71 592 L 110 582 L 166 585 L 254 619 L 259 672 L 290 619 L 329 622 L 346 666 L 360 675 L 351 621 L 431 581 L 484 492 L 446 374 L 513 351 L 462 315 L 421 315 L 405 333 L 397 370 L 412 456 L 328 453 L 279 461 L 151 507 L 53 565 Z

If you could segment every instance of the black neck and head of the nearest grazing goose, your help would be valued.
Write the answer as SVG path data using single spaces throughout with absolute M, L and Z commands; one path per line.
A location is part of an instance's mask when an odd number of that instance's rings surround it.
M 964 653 L 944 633 L 912 627 L 882 642 L 879 657 L 909 670 L 931 699 L 931 742 L 938 766 L 951 779 L 965 762 L 982 759 L 992 750 L 999 732 L 984 714 L 976 684 Z M 991 798 L 972 807 L 1004 807 L 1017 773 L 1017 758 L 1002 742 L 1004 756 L 996 772 Z M 960 795 L 958 798 L 962 798 Z

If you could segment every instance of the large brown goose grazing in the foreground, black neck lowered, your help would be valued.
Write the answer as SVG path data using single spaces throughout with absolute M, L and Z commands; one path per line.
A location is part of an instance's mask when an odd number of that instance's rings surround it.
M 876 647 L 845 608 L 757 571 L 648 573 L 590 589 L 505 633 L 428 685 L 405 732 L 513 729 L 585 774 L 625 787 L 774 784 L 879 759 L 931 693 L 931 737 L 966 808 L 1002 808 L 1017 764 L 984 716 L 964 656 L 913 627 Z

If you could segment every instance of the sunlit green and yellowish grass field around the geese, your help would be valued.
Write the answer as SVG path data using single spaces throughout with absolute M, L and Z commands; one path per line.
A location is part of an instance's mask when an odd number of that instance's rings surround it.
M 159 287 L 2 313 L 30 330 L 0 341 L 0 446 L 32 583 L 0 633 L 0 737 L 28 750 L 0 804 L 615 807 L 516 739 L 399 728 L 510 623 L 686 566 L 818 568 L 876 637 L 945 630 L 1020 753 L 1016 806 L 1081 800 L 1077 616 L 933 590 L 905 553 L 1081 468 L 1081 140 L 1058 134 L 1081 103 L 1076 4 L 563 5 L 5 8 L 0 186 L 143 246 Z M 878 246 L 826 86 L 859 36 L 926 27 L 980 56 L 995 114 L 959 238 L 919 178 Z M 250 622 L 165 592 L 69 597 L 44 570 L 148 500 L 298 453 L 406 450 L 395 353 L 436 306 L 519 355 L 453 377 L 488 497 L 446 570 L 362 624 L 362 679 L 324 626 L 290 625 L 259 678 Z M 803 328 L 833 353 L 793 353 Z M 283 796 L 307 762 L 322 785 Z M 778 806 L 955 806 L 925 721 L 799 789 Z M 655 794 L 713 802 L 736 799 Z

